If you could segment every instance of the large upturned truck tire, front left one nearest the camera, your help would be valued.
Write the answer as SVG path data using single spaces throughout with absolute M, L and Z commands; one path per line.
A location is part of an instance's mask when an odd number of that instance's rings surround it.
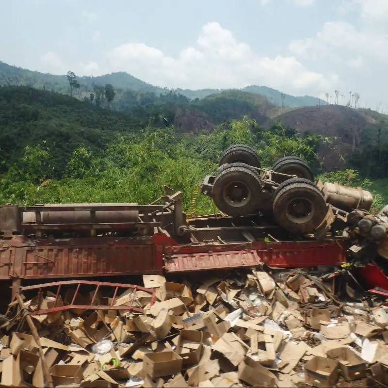
M 214 180 L 212 197 L 215 205 L 230 216 L 243 216 L 258 209 L 261 181 L 245 167 L 231 167 Z

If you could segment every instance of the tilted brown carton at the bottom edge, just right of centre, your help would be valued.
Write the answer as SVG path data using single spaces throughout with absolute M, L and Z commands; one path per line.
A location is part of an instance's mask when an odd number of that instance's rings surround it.
M 251 357 L 245 357 L 239 364 L 239 379 L 256 387 L 276 387 L 277 378 L 274 373 L 260 365 Z

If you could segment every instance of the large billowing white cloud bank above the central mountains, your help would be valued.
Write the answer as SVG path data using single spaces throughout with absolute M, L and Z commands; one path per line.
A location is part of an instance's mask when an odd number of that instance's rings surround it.
M 338 84 L 335 74 L 307 70 L 294 56 L 260 57 L 218 23 L 201 29 L 196 45 L 173 58 L 143 43 L 127 43 L 107 53 L 111 71 L 155 85 L 229 88 L 264 84 L 291 94 L 320 94 Z

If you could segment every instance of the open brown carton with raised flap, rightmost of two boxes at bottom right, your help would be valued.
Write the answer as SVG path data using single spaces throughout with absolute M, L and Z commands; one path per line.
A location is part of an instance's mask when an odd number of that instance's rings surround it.
M 342 375 L 346 380 L 353 381 L 365 377 L 367 372 L 365 361 L 349 348 L 330 349 L 326 352 L 326 356 L 339 362 Z

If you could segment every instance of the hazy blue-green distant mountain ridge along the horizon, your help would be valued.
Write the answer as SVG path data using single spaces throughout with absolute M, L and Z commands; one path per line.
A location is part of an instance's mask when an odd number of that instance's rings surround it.
M 122 71 L 98 77 L 80 77 L 79 82 L 81 84 L 80 93 L 82 97 L 85 97 L 88 93 L 93 91 L 93 84 L 105 85 L 107 83 L 110 83 L 117 90 L 130 89 L 137 92 L 155 93 L 156 96 L 159 96 L 160 94 L 166 94 L 170 90 L 168 88 L 161 88 L 158 86 L 151 85 Z M 60 76 L 53 74 L 44 74 L 38 71 L 32 71 L 23 69 L 21 67 L 7 65 L 4 62 L 0 61 L 0 85 L 3 84 L 26 85 L 35 87 L 37 89 L 52 90 L 54 92 L 59 93 L 69 92 L 68 82 L 64 75 Z M 230 89 L 174 89 L 176 93 L 188 97 L 192 100 L 195 100 L 196 98 L 202 99 L 210 95 L 223 92 L 225 90 Z M 236 90 L 261 95 L 267 98 L 271 104 L 282 106 L 282 93 L 276 89 L 272 89 L 267 86 L 250 85 L 245 88 Z M 284 104 L 286 107 L 292 108 L 315 106 L 322 105 L 323 100 L 311 96 L 295 97 L 291 95 L 285 95 Z

